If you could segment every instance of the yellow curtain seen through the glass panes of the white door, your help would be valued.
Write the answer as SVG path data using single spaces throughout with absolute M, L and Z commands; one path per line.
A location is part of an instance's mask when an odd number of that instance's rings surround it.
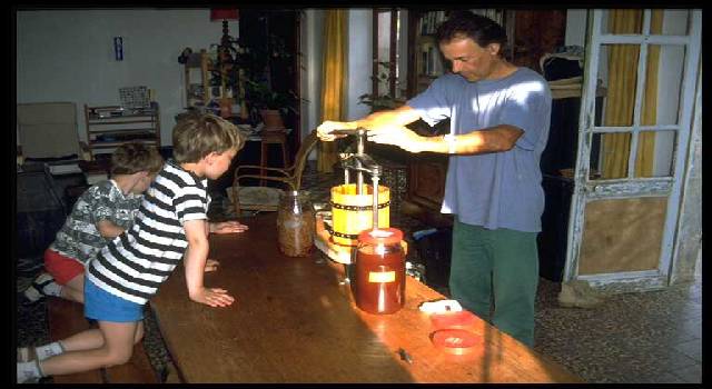
M 641 33 L 642 10 L 610 10 L 609 27 L 611 33 Z M 653 10 L 651 32 L 662 30 L 662 10 Z M 632 126 L 635 107 L 635 83 L 637 81 L 637 61 L 640 46 L 613 44 L 609 54 L 609 92 L 605 104 L 604 126 Z M 641 124 L 654 124 L 657 103 L 657 63 L 660 47 L 649 46 L 647 72 Z M 627 176 L 630 156 L 630 133 L 607 133 L 603 139 L 602 178 L 623 178 Z M 635 163 L 635 177 L 650 177 L 653 170 L 655 133 L 641 133 Z

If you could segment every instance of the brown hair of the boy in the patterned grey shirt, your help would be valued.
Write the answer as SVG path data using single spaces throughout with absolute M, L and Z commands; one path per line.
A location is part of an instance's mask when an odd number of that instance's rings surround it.
M 128 142 L 119 146 L 111 154 L 111 174 L 134 174 L 139 171 L 158 173 L 164 158 L 154 146 Z

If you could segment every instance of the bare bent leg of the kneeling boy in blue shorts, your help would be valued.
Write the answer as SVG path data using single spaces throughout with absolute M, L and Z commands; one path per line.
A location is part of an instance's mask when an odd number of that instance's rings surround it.
M 85 349 L 81 351 L 69 351 L 69 349 L 67 349 L 67 352 L 62 355 L 41 361 L 40 367 L 42 372 L 44 376 L 70 375 L 73 372 L 128 362 L 131 358 L 131 353 L 134 352 L 134 343 L 139 329 L 139 323 L 140 321 L 99 321 L 100 335 L 103 337 L 102 346 L 96 349 Z M 78 336 L 80 335 L 81 333 Z M 68 338 L 68 340 L 71 338 Z M 88 339 L 93 339 L 93 336 L 89 336 Z M 65 343 L 65 341 L 62 341 L 62 343 Z

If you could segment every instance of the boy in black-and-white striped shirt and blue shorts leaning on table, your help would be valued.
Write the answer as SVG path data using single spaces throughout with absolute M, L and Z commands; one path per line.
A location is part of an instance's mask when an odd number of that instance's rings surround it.
M 126 363 L 144 336 L 144 305 L 185 255 L 191 300 L 227 307 L 227 290 L 202 283 L 209 232 L 238 232 L 237 222 L 209 226 L 207 179 L 217 179 L 245 138 L 212 114 L 191 114 L 174 128 L 174 157 L 148 188 L 131 228 L 111 240 L 87 266 L 85 316 L 99 323 L 17 363 L 17 381 Z M 39 348 L 38 348 L 39 351 Z

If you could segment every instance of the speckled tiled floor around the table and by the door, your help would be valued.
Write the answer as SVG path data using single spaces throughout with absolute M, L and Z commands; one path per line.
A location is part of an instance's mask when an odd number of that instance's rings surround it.
M 327 189 L 338 183 L 338 174 L 315 174 L 307 168 L 303 188 L 315 202 L 328 201 Z M 395 174 L 387 186 L 403 188 Z M 396 189 L 397 191 L 397 189 Z M 398 193 L 395 193 L 396 196 Z M 222 212 L 215 201 L 212 215 Z M 393 209 L 393 208 L 392 208 Z M 392 210 L 392 225 L 414 231 L 419 225 Z M 413 252 L 413 251 L 412 251 Z M 415 252 L 413 252 L 415 255 Z M 409 258 L 417 261 L 417 258 Z M 700 259 L 699 259 L 700 260 Z M 22 305 L 21 291 L 40 271 L 38 259 L 18 263 L 18 345 L 42 345 L 49 340 L 43 302 Z M 701 269 L 701 266 L 698 266 Z M 662 291 L 609 297 L 594 309 L 561 308 L 556 296 L 561 285 L 540 279 L 536 299 L 535 350 L 595 383 L 699 383 L 702 380 L 702 275 L 693 283 L 676 285 Z M 445 290 L 446 292 L 446 290 Z M 164 371 L 170 361 L 152 316 L 146 318 L 145 346 L 151 362 Z M 42 380 L 51 382 L 51 378 Z

